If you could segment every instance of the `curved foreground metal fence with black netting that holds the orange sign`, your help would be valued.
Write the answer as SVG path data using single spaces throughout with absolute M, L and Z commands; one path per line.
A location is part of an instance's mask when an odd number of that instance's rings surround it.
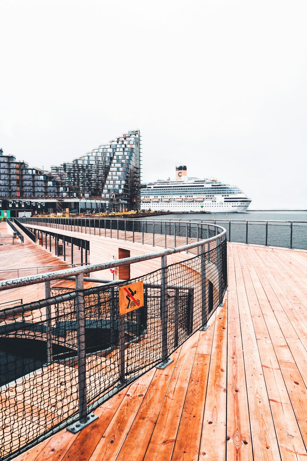
M 2 459 L 62 427 L 75 424 L 72 430 L 77 430 L 91 421 L 101 402 L 152 366 L 167 363 L 207 324 L 227 286 L 226 232 L 214 226 L 211 231 L 218 235 L 180 248 L 0 282 L 0 290 L 46 284 L 46 299 L 0 311 L 2 349 L 12 339 L 19 351 L 35 341 L 35 356 L 26 364 L 23 357 L 1 357 Z M 190 253 L 186 260 L 167 265 L 168 254 L 184 251 Z M 84 290 L 84 273 L 156 257 L 161 269 L 142 278 Z M 51 287 L 51 281 L 70 276 L 75 290 Z M 119 287 L 140 279 L 144 307 L 120 316 Z

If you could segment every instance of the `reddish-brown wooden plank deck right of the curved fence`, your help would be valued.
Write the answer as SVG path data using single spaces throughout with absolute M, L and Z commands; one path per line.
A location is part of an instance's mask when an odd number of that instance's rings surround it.
M 228 250 L 229 291 L 207 331 L 79 434 L 60 431 L 16 459 L 307 459 L 307 252 Z

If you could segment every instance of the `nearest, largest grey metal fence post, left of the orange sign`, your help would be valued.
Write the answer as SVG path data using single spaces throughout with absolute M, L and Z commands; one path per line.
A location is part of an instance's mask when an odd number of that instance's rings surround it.
M 87 422 L 87 383 L 86 383 L 86 346 L 83 274 L 76 275 L 76 307 L 77 307 L 77 353 L 78 353 L 78 391 L 79 418 L 81 424 Z

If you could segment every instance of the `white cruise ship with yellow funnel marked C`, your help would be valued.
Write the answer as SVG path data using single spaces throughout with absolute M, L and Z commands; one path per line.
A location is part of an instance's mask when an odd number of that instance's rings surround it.
M 251 199 L 237 186 L 217 179 L 186 176 L 186 166 L 176 166 L 176 179 L 141 185 L 141 209 L 170 212 L 223 213 L 247 210 Z

